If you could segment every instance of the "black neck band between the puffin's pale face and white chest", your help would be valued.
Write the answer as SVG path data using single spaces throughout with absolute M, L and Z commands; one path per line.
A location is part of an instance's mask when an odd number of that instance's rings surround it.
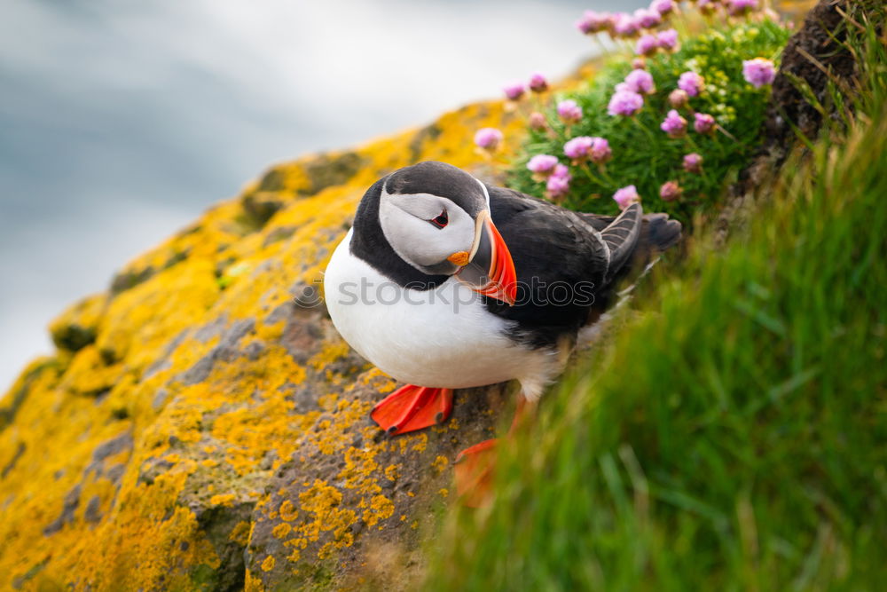
M 349 250 L 355 257 L 363 259 L 377 272 L 395 281 L 403 288 L 429 290 L 448 280 L 448 275 L 428 275 L 406 263 L 391 247 L 379 224 L 379 200 L 385 178 L 370 187 L 364 199 L 357 206 L 354 216 L 354 232 L 351 234 Z

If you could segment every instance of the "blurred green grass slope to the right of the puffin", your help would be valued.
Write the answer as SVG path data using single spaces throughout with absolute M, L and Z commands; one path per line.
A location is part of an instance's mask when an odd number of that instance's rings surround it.
M 883 27 L 883 7 L 869 16 Z M 425 588 L 883 589 L 887 55 L 874 29 L 851 42 L 855 115 L 783 167 L 747 232 L 659 266 L 640 310 L 501 447 L 493 506 L 446 518 Z

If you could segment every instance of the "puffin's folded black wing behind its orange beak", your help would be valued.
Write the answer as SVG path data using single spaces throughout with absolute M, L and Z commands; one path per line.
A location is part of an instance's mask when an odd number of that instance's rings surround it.
M 517 327 L 512 337 L 534 347 L 572 339 L 594 308 L 605 303 L 608 280 L 631 255 L 619 251 L 623 240 L 637 241 L 637 215 L 624 217 L 608 241 L 576 212 L 501 187 L 488 186 L 493 222 L 506 241 L 517 272 L 517 303 L 508 306 L 488 298 L 487 309 Z M 624 212 L 628 214 L 628 211 Z M 620 217 L 622 218 L 622 217 Z M 619 261 L 611 261 L 611 251 Z

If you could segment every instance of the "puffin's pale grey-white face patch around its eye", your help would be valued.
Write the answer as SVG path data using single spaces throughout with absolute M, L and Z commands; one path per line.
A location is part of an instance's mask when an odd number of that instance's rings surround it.
M 429 275 L 459 271 L 480 231 L 454 201 L 431 193 L 390 194 L 383 189 L 379 222 L 396 254 Z

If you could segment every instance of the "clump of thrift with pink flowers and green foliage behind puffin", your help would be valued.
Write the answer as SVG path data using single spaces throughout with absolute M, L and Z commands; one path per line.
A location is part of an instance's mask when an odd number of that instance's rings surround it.
M 647 211 L 688 222 L 735 178 L 761 140 L 789 37 L 762 4 L 653 0 L 635 12 L 584 12 L 578 31 L 607 47 L 615 43 L 622 58 L 577 91 L 551 92 L 541 74 L 505 87 L 529 133 L 509 184 L 605 214 L 643 196 Z M 694 11 L 707 15 L 707 28 L 697 36 L 679 33 L 689 29 L 681 20 Z M 502 138 L 475 141 L 494 150 Z

